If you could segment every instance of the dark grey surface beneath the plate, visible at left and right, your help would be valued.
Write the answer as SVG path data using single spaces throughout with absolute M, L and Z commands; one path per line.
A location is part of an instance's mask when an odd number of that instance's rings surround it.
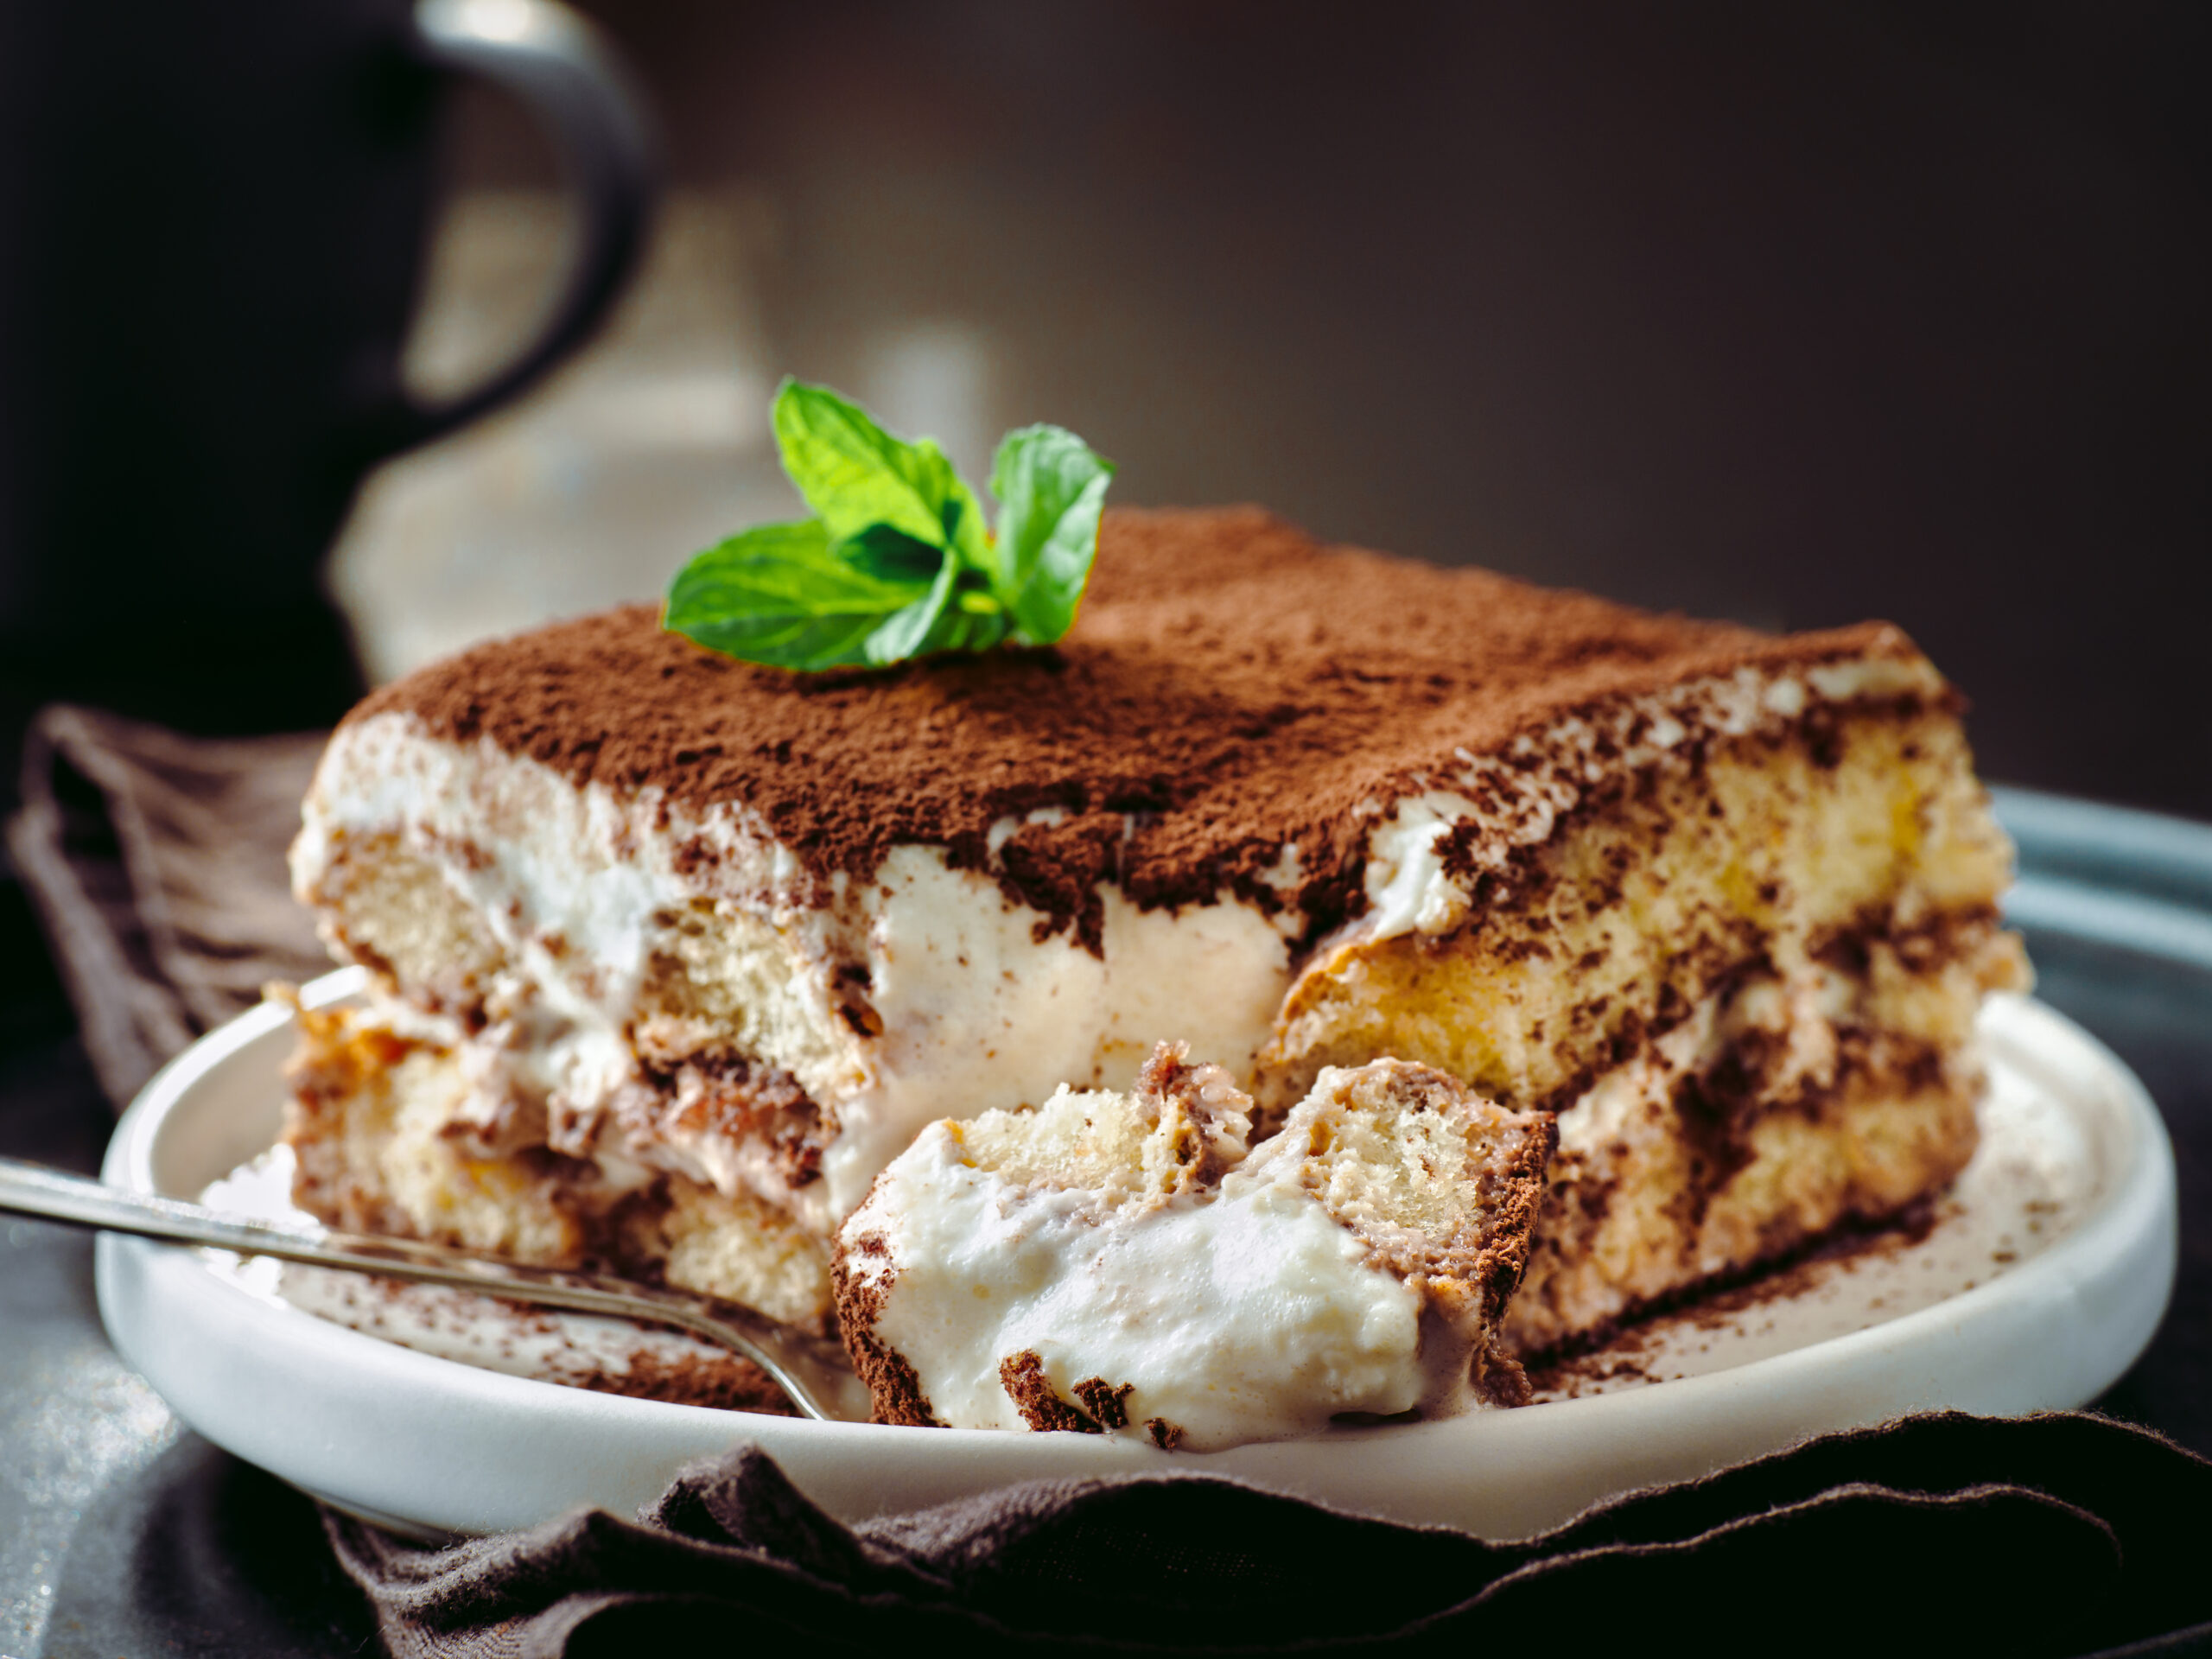
M 2148 821 L 2128 841 L 2146 821 L 2004 805 L 2039 995 L 2135 1066 L 2181 1172 L 2172 1312 L 2099 1405 L 2212 1453 L 2212 832 L 2192 845 Z M 2141 925 L 2161 916 L 2179 925 Z M 0 1152 L 95 1170 L 108 1128 L 22 896 L 0 885 Z M 363 1650 L 374 1626 L 307 1500 L 184 1429 L 108 1349 L 91 1239 L 0 1223 L 0 1655 Z

